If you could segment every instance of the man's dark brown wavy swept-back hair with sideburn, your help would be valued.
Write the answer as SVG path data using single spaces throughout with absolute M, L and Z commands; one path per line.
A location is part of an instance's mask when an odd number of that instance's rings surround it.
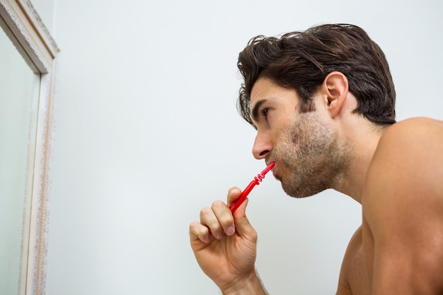
M 357 98 L 354 112 L 376 125 L 396 122 L 396 91 L 384 53 L 356 25 L 318 25 L 281 37 L 253 37 L 238 56 L 243 83 L 238 111 L 252 124 L 251 89 L 257 79 L 272 79 L 294 88 L 301 98 L 300 111 L 315 110 L 311 96 L 328 74 L 340 71 Z

